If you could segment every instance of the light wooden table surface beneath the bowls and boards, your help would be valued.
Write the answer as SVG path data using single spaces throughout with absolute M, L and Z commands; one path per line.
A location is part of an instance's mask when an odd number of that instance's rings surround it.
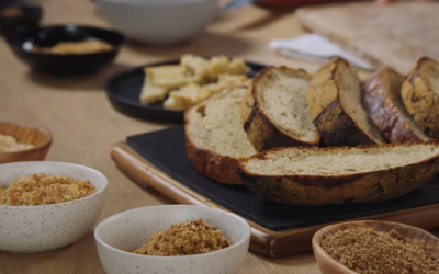
M 44 24 L 79 23 L 109 26 L 89 0 L 40 0 Z M 169 125 L 135 119 L 117 113 L 103 92 L 113 73 L 148 62 L 178 58 L 182 54 L 226 54 L 248 60 L 301 67 L 315 71 L 315 64 L 301 62 L 268 50 L 273 38 L 302 35 L 293 13 L 273 13 L 258 7 L 221 14 L 191 43 L 154 48 L 127 44 L 113 65 L 92 77 L 52 78 L 29 70 L 0 42 L 0 119 L 42 125 L 52 130 L 54 144 L 47 160 L 75 162 L 103 172 L 109 179 L 105 206 L 100 220 L 136 207 L 170 204 L 154 190 L 142 190 L 121 173 L 110 158 L 112 144 L 128 135 L 153 132 Z M 294 247 L 292 247 L 294 248 Z M 0 252 L 1 274 L 100 274 L 93 233 L 52 252 L 13 254 Z M 248 253 L 241 274 L 318 274 L 313 254 L 267 259 Z

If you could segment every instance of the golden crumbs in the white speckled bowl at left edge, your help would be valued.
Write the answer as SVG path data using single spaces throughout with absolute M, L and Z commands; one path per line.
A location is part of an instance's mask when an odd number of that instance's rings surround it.
M 95 192 L 90 182 L 69 176 L 37 173 L 21 176 L 8 187 L 0 186 L 0 205 L 49 205 L 87 197 Z

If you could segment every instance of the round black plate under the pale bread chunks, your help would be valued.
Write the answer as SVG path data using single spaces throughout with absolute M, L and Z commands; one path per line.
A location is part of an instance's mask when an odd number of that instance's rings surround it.
M 161 103 L 143 105 L 138 100 L 142 87 L 145 80 L 144 68 L 156 67 L 164 65 L 178 65 L 180 60 L 172 60 L 166 62 L 157 62 L 145 65 L 124 71 L 112 77 L 105 84 L 106 95 L 111 103 L 116 110 L 131 116 L 138 118 L 160 121 L 169 123 L 182 123 L 183 114 L 182 111 L 169 111 L 165 110 Z M 251 68 L 251 72 L 248 77 L 255 77 L 260 70 L 267 67 L 267 65 L 257 62 L 246 62 Z

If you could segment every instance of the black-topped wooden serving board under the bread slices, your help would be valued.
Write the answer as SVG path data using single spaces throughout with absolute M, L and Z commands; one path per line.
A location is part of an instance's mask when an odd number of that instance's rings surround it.
M 182 126 L 128 137 L 114 145 L 111 156 L 137 184 L 151 186 L 177 203 L 211 206 L 243 216 L 251 226 L 250 250 L 266 256 L 311 252 L 311 239 L 318 229 L 347 220 L 439 227 L 438 179 L 404 197 L 376 204 L 285 206 L 266 202 L 245 186 L 219 184 L 199 174 L 185 157 Z

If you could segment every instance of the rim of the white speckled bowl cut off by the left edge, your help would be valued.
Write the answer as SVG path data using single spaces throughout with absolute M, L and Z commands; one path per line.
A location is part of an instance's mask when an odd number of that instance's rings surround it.
M 106 186 L 109 185 L 109 180 L 106 179 L 106 176 L 104 174 L 102 174 L 102 172 L 86 167 L 86 165 L 81 165 L 78 163 L 71 163 L 71 162 L 57 162 L 57 161 L 24 161 L 24 162 L 9 162 L 9 163 L 2 163 L 0 164 L 1 168 L 5 167 L 8 168 L 8 165 L 26 165 L 26 164 L 59 164 L 59 165 L 69 165 L 69 167 L 75 167 L 75 168 L 79 168 L 82 170 L 88 170 L 91 171 L 91 173 L 95 173 L 99 176 L 101 176 L 103 180 L 103 186 L 101 187 L 101 190 L 98 190 L 97 192 L 94 192 L 93 194 L 83 197 L 83 198 L 78 198 L 78 199 L 74 199 L 74 201 L 69 201 L 69 202 L 64 202 L 64 203 L 56 203 L 56 204 L 48 204 L 48 205 L 32 205 L 32 206 L 5 206 L 5 205 L 0 205 L 0 209 L 2 208 L 7 208 L 7 209 L 29 209 L 29 208 L 43 208 L 43 207 L 53 207 L 53 206 L 61 206 L 61 205 L 68 205 L 68 204 L 74 204 L 74 203 L 78 203 L 79 201 L 86 201 L 89 198 L 93 198 L 94 196 L 97 196 L 98 194 L 101 194 L 102 192 L 104 192 L 106 190 Z

